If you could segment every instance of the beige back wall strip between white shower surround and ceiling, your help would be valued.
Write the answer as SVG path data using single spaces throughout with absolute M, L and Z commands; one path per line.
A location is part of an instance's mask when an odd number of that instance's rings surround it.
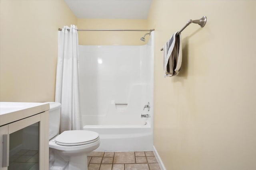
M 147 20 L 79 19 L 78 29 L 147 29 Z M 144 45 L 147 31 L 79 31 L 80 45 Z M 149 36 L 146 35 L 146 41 Z

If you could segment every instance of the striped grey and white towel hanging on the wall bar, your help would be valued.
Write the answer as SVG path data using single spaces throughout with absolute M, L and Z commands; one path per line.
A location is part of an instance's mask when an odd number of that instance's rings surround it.
M 164 45 L 164 77 L 171 77 L 179 74 L 182 63 L 181 35 L 178 31 L 174 33 Z

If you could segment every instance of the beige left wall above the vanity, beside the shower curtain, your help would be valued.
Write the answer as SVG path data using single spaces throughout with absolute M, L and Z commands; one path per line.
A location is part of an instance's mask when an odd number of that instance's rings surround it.
M 58 28 L 70 24 L 62 0 L 0 1 L 0 101 L 54 101 Z

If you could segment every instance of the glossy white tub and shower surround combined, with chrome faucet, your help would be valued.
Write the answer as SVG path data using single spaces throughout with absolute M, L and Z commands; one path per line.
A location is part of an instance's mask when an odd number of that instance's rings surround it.
M 153 150 L 154 31 L 146 45 L 79 45 L 83 129 L 100 151 Z

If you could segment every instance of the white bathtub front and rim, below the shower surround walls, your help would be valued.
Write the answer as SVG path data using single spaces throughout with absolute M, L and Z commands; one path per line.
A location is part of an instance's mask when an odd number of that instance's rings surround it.
M 153 150 L 153 133 L 149 121 L 144 125 L 85 125 L 84 130 L 100 135 L 97 151 Z

